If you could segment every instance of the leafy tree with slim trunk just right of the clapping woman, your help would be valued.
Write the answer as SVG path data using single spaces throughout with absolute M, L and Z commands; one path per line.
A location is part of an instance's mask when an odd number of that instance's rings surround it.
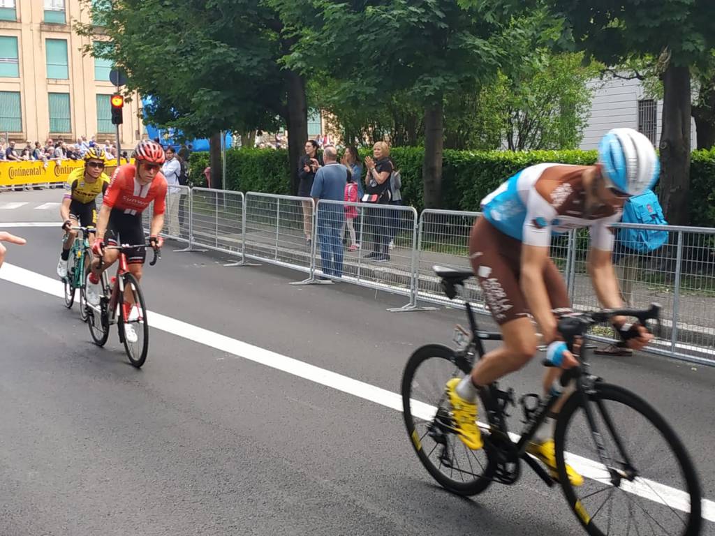
M 306 73 L 316 65 L 337 80 L 340 94 L 385 105 L 404 94 L 423 114 L 425 206 L 442 199 L 445 96 L 495 76 L 516 54 L 523 29 L 487 6 L 453 0 L 269 0 L 295 21 L 300 40 L 286 62 Z

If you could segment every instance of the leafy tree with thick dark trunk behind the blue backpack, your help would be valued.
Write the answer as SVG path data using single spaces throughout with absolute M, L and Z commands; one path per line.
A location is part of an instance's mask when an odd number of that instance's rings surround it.
M 511 2 L 512 0 L 504 0 Z M 689 219 L 691 71 L 715 46 L 712 0 L 551 0 L 577 49 L 606 65 L 658 57 L 663 71 L 661 202 L 672 224 Z

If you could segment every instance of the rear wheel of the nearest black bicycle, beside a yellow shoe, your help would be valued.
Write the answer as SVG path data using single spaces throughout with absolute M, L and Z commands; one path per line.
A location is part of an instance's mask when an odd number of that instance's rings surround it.
M 487 452 L 471 450 L 453 432 L 445 384 L 469 372 L 468 365 L 456 364 L 452 349 L 430 344 L 412 354 L 402 381 L 403 416 L 412 446 L 430 475 L 458 495 L 483 492 L 494 474 Z M 485 415 L 483 404 L 479 410 Z

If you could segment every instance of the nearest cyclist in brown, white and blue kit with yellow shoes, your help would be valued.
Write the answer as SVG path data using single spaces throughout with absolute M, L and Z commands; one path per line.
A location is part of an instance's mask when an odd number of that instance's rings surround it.
M 501 328 L 503 345 L 485 354 L 471 374 L 450 379 L 445 387 L 455 427 L 467 447 L 483 447 L 476 424 L 479 390 L 521 369 L 536 354 L 538 335 L 533 320 L 553 363 L 565 367 L 578 364 L 556 330 L 555 313 L 570 311 L 571 303 L 563 277 L 549 258 L 552 233 L 590 229 L 588 273 L 593 289 L 603 307 L 623 307 L 611 264 L 613 232 L 609 226 L 621 219 L 628 197 L 652 187 L 658 174 L 658 157 L 649 139 L 633 129 L 613 129 L 598 147 L 598 164 L 527 167 L 483 199 L 483 216 L 472 229 L 469 252 L 485 302 Z M 633 349 L 644 347 L 653 337 L 644 326 L 627 324 L 623 317 L 612 321 Z M 560 368 L 547 369 L 545 392 L 551 390 L 559 374 Z M 561 397 L 553 412 L 558 412 L 566 397 Z M 555 422 L 553 416 L 546 419 L 527 451 L 558 477 Z M 583 483 L 571 467 L 567 466 L 567 473 L 572 485 Z

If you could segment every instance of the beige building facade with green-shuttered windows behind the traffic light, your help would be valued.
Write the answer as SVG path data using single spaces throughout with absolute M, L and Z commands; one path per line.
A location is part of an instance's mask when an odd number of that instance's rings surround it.
M 44 142 L 48 136 L 67 142 L 79 136 L 115 139 L 111 65 L 83 55 L 90 41 L 75 32 L 77 21 L 92 21 L 79 0 L 0 0 L 1 137 L 21 142 Z M 101 25 L 97 28 L 101 34 Z M 125 101 L 122 150 L 144 134 L 140 106 L 137 96 Z

